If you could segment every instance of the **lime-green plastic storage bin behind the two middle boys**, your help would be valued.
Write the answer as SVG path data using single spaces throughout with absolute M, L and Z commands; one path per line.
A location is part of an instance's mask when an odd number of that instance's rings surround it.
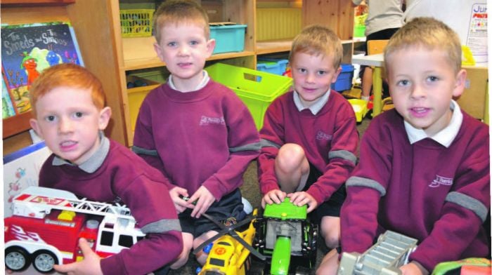
M 223 63 L 216 63 L 205 69 L 214 81 L 231 88 L 242 102 L 245 102 L 258 130 L 263 126 L 263 117 L 268 105 L 292 86 L 290 77 L 254 69 Z

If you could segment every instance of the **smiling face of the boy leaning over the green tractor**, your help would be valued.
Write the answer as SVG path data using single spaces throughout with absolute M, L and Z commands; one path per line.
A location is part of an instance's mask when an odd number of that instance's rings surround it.
M 333 67 L 333 57 L 295 53 L 292 58 L 294 88 L 305 107 L 313 105 L 337 81 L 340 68 Z

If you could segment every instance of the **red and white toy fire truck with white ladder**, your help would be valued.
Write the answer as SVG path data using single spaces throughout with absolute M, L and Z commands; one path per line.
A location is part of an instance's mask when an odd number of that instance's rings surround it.
M 13 271 L 32 262 L 37 271 L 49 273 L 53 264 L 80 261 L 80 238 L 100 257 L 108 257 L 145 236 L 126 206 L 44 187 L 29 187 L 15 196 L 13 215 L 4 222 L 5 265 Z

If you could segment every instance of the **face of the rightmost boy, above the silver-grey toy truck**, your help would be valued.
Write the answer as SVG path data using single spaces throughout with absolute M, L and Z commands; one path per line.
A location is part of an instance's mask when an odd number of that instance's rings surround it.
M 462 94 L 466 71 L 455 73 L 446 53 L 422 47 L 389 56 L 388 83 L 396 111 L 432 136 L 451 121 L 451 99 Z

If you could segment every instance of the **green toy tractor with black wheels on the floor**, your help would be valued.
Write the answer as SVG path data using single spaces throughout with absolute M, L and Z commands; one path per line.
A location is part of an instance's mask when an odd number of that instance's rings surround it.
M 267 257 L 265 274 L 309 274 L 315 267 L 318 226 L 307 219 L 307 206 L 295 206 L 289 198 L 267 204 L 254 224 L 253 246 Z

